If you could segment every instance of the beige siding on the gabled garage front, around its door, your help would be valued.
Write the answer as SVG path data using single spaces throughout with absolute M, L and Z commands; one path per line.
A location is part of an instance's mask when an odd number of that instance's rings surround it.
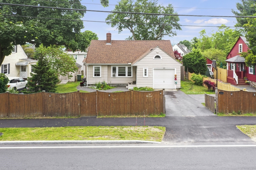
M 156 55 L 161 56 L 162 59 L 154 59 Z M 160 48 L 152 50 L 133 66 L 137 66 L 137 87 L 153 87 L 153 68 L 173 68 L 177 74 L 176 88 L 180 88 L 180 66 L 182 65 Z M 148 68 L 148 77 L 143 77 L 143 68 Z

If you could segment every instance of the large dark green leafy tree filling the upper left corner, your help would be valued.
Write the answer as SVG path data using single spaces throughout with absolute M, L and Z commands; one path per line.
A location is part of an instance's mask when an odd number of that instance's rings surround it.
M 61 8 L 86 9 L 79 0 L 62 1 L 36 1 L 36 0 L 4 0 L 1 1 L 10 4 L 26 4 L 34 6 L 48 6 Z M 74 3 L 73 3 L 74 2 Z M 108 6 L 108 0 L 101 0 L 103 6 Z M 90 41 L 82 36 L 80 30 L 84 28 L 83 21 L 80 20 L 85 11 L 74 11 L 64 9 L 50 8 L 31 8 L 23 6 L 0 6 L 0 64 L 5 56 L 12 53 L 13 45 L 23 45 L 26 42 L 36 44 L 65 45 L 66 48 L 73 51 L 80 49 L 86 50 Z M 4 16 L 4 15 L 14 15 Z M 31 16 L 31 17 L 15 17 Z M 58 18 L 70 20 L 44 19 Z

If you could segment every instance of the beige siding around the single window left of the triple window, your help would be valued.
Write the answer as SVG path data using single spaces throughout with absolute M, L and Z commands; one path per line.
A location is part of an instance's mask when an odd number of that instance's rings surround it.
M 93 77 L 93 66 L 101 66 L 101 77 Z M 108 83 L 108 65 L 87 65 L 87 84 L 105 81 Z

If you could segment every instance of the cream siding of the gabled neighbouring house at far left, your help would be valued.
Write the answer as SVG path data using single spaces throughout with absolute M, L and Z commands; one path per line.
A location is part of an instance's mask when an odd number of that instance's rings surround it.
M 2 64 L 10 64 L 10 74 L 6 74 L 7 77 L 19 77 L 19 67 L 16 66 L 16 62 L 19 59 L 27 58 L 27 55 L 24 53 L 22 47 L 17 45 L 17 53 L 12 53 L 9 56 L 5 56 L 4 61 Z M 2 69 L 0 65 L 0 70 Z

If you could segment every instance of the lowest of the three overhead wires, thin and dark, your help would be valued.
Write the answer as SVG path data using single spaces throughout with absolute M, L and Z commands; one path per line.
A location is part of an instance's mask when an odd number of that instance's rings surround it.
M 56 19 L 56 20 L 67 20 L 67 21 L 84 21 L 84 22 L 104 22 L 104 23 L 117 23 L 117 24 L 136 24 L 136 25 L 167 25 L 167 26 L 187 26 L 187 27 L 221 27 L 221 28 L 256 28 L 256 27 L 228 27 L 228 26 L 200 26 L 200 25 L 174 25 L 174 24 L 147 24 L 147 23 L 129 23 L 129 22 L 107 22 L 107 21 L 87 21 L 87 20 L 75 20 L 75 19 L 61 19 L 61 18 L 44 18 L 44 17 L 29 17 L 29 16 L 20 16 L 20 15 L 6 15 L 4 16 L 13 16 L 13 17 L 27 17 L 27 18 L 41 18 L 41 19 Z

